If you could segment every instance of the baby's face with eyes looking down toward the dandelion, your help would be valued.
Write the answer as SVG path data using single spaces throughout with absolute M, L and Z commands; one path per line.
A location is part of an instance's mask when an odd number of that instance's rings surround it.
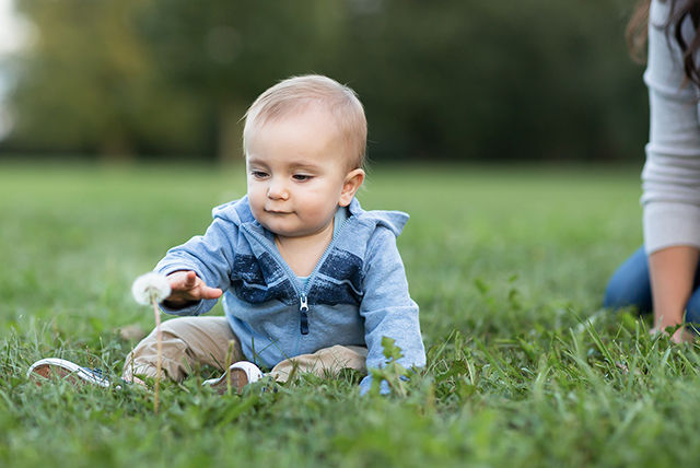
M 328 227 L 348 175 L 347 144 L 330 115 L 311 107 L 254 129 L 247 139 L 248 200 L 255 219 L 280 237 Z

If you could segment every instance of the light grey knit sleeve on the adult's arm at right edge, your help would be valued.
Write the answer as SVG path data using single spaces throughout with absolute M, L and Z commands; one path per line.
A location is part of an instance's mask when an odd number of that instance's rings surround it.
M 644 246 L 648 254 L 674 245 L 700 247 L 700 125 L 698 90 L 684 74 L 678 45 L 663 25 L 669 2 L 650 12 L 650 140 L 642 172 Z M 684 24 L 691 37 L 692 26 Z

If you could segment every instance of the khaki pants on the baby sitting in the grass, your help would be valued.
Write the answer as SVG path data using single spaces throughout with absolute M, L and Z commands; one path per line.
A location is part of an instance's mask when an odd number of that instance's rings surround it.
M 163 321 L 162 367 L 170 378 L 182 382 L 192 368 L 210 365 L 224 370 L 230 343 L 233 342 L 231 362 L 244 361 L 241 343 L 231 330 L 225 317 L 178 317 Z M 270 375 L 285 382 L 293 372 L 311 372 L 316 375 L 337 375 L 342 368 L 366 372 L 364 347 L 335 346 L 313 354 L 301 354 L 277 364 Z M 127 355 L 122 378 L 132 381 L 133 375 L 155 377 L 158 342 L 155 330 L 145 337 Z M 295 371 L 294 371 L 295 370 Z

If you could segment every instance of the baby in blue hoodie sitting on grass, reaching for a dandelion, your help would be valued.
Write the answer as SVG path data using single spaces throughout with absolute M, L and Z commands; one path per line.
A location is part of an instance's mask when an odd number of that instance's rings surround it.
M 401 349 L 405 367 L 423 366 L 418 306 L 396 247 L 408 215 L 364 211 L 355 199 L 366 145 L 355 93 L 322 75 L 284 80 L 253 103 L 243 139 L 247 195 L 215 208 L 203 235 L 155 267 L 172 289 L 162 309 L 189 316 L 163 323 L 167 376 L 179 382 L 212 365 L 224 374 L 207 384 L 223 391 L 259 378 L 258 366 L 280 382 L 366 373 L 386 363 L 383 337 Z M 200 317 L 221 296 L 225 317 Z M 37 364 L 46 373 L 55 363 Z M 155 330 L 127 356 L 124 379 L 139 375 L 156 375 Z M 361 393 L 370 386 L 365 376 Z

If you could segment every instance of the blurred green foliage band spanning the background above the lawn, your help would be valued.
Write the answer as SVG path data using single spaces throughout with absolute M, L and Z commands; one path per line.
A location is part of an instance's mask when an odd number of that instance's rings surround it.
M 641 159 L 631 3 L 22 0 L 0 149 L 237 159 L 255 96 L 318 72 L 360 94 L 374 160 Z

